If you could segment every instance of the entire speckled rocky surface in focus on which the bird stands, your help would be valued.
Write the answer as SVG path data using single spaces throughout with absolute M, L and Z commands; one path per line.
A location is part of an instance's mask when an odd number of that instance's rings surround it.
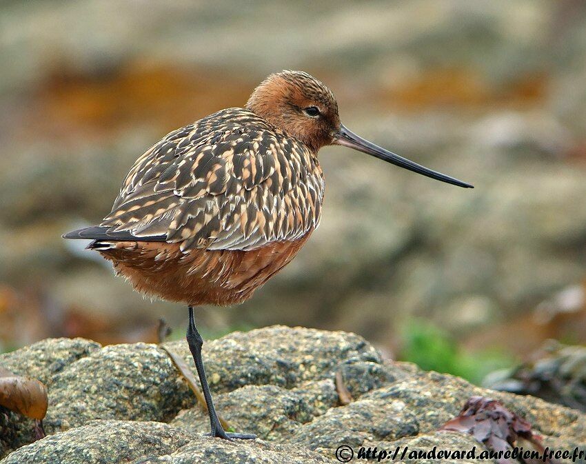
M 185 342 L 168 347 L 194 368 Z M 48 339 L 0 357 L 43 379 L 50 402 L 48 436 L 32 444 L 27 421 L 0 414 L 1 464 L 322 463 L 340 445 L 483 449 L 471 436 L 437 432 L 472 395 L 492 396 L 527 418 L 545 445 L 586 447 L 581 412 L 385 363 L 354 334 L 267 327 L 210 341 L 204 353 L 219 411 L 255 441 L 206 437 L 207 416 L 161 347 Z M 341 405 L 336 373 L 350 404 Z

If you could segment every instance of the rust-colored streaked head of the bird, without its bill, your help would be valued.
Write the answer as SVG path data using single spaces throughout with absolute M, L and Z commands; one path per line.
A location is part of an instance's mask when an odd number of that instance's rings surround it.
M 303 71 L 271 74 L 250 95 L 246 108 L 317 152 L 340 127 L 338 103 L 323 83 Z

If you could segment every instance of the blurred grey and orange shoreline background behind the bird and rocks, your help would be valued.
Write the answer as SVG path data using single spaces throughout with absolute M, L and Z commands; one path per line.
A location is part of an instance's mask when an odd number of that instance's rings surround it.
M 320 152 L 321 228 L 205 336 L 357 332 L 479 382 L 546 339 L 586 343 L 586 3 L 9 1 L 0 6 L 0 351 L 48 336 L 156 341 L 163 316 L 61 234 L 99 223 L 164 134 L 310 72 L 344 123 L 463 190 Z M 586 376 L 585 376 L 586 378 Z

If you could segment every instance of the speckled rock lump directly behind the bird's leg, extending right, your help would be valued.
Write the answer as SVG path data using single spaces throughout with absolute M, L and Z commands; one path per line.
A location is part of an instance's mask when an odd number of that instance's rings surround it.
M 185 341 L 167 345 L 195 369 Z M 350 361 L 381 363 L 381 355 L 356 334 L 303 327 L 234 332 L 203 345 L 203 362 L 215 392 L 230 392 L 244 385 L 292 388 L 307 381 L 331 379 L 334 371 Z

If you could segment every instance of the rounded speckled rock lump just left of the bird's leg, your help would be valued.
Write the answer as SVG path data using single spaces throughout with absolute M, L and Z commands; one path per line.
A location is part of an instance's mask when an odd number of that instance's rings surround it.
M 168 354 L 156 345 L 112 345 L 56 374 L 49 390 L 48 431 L 94 419 L 169 421 L 193 405 Z

